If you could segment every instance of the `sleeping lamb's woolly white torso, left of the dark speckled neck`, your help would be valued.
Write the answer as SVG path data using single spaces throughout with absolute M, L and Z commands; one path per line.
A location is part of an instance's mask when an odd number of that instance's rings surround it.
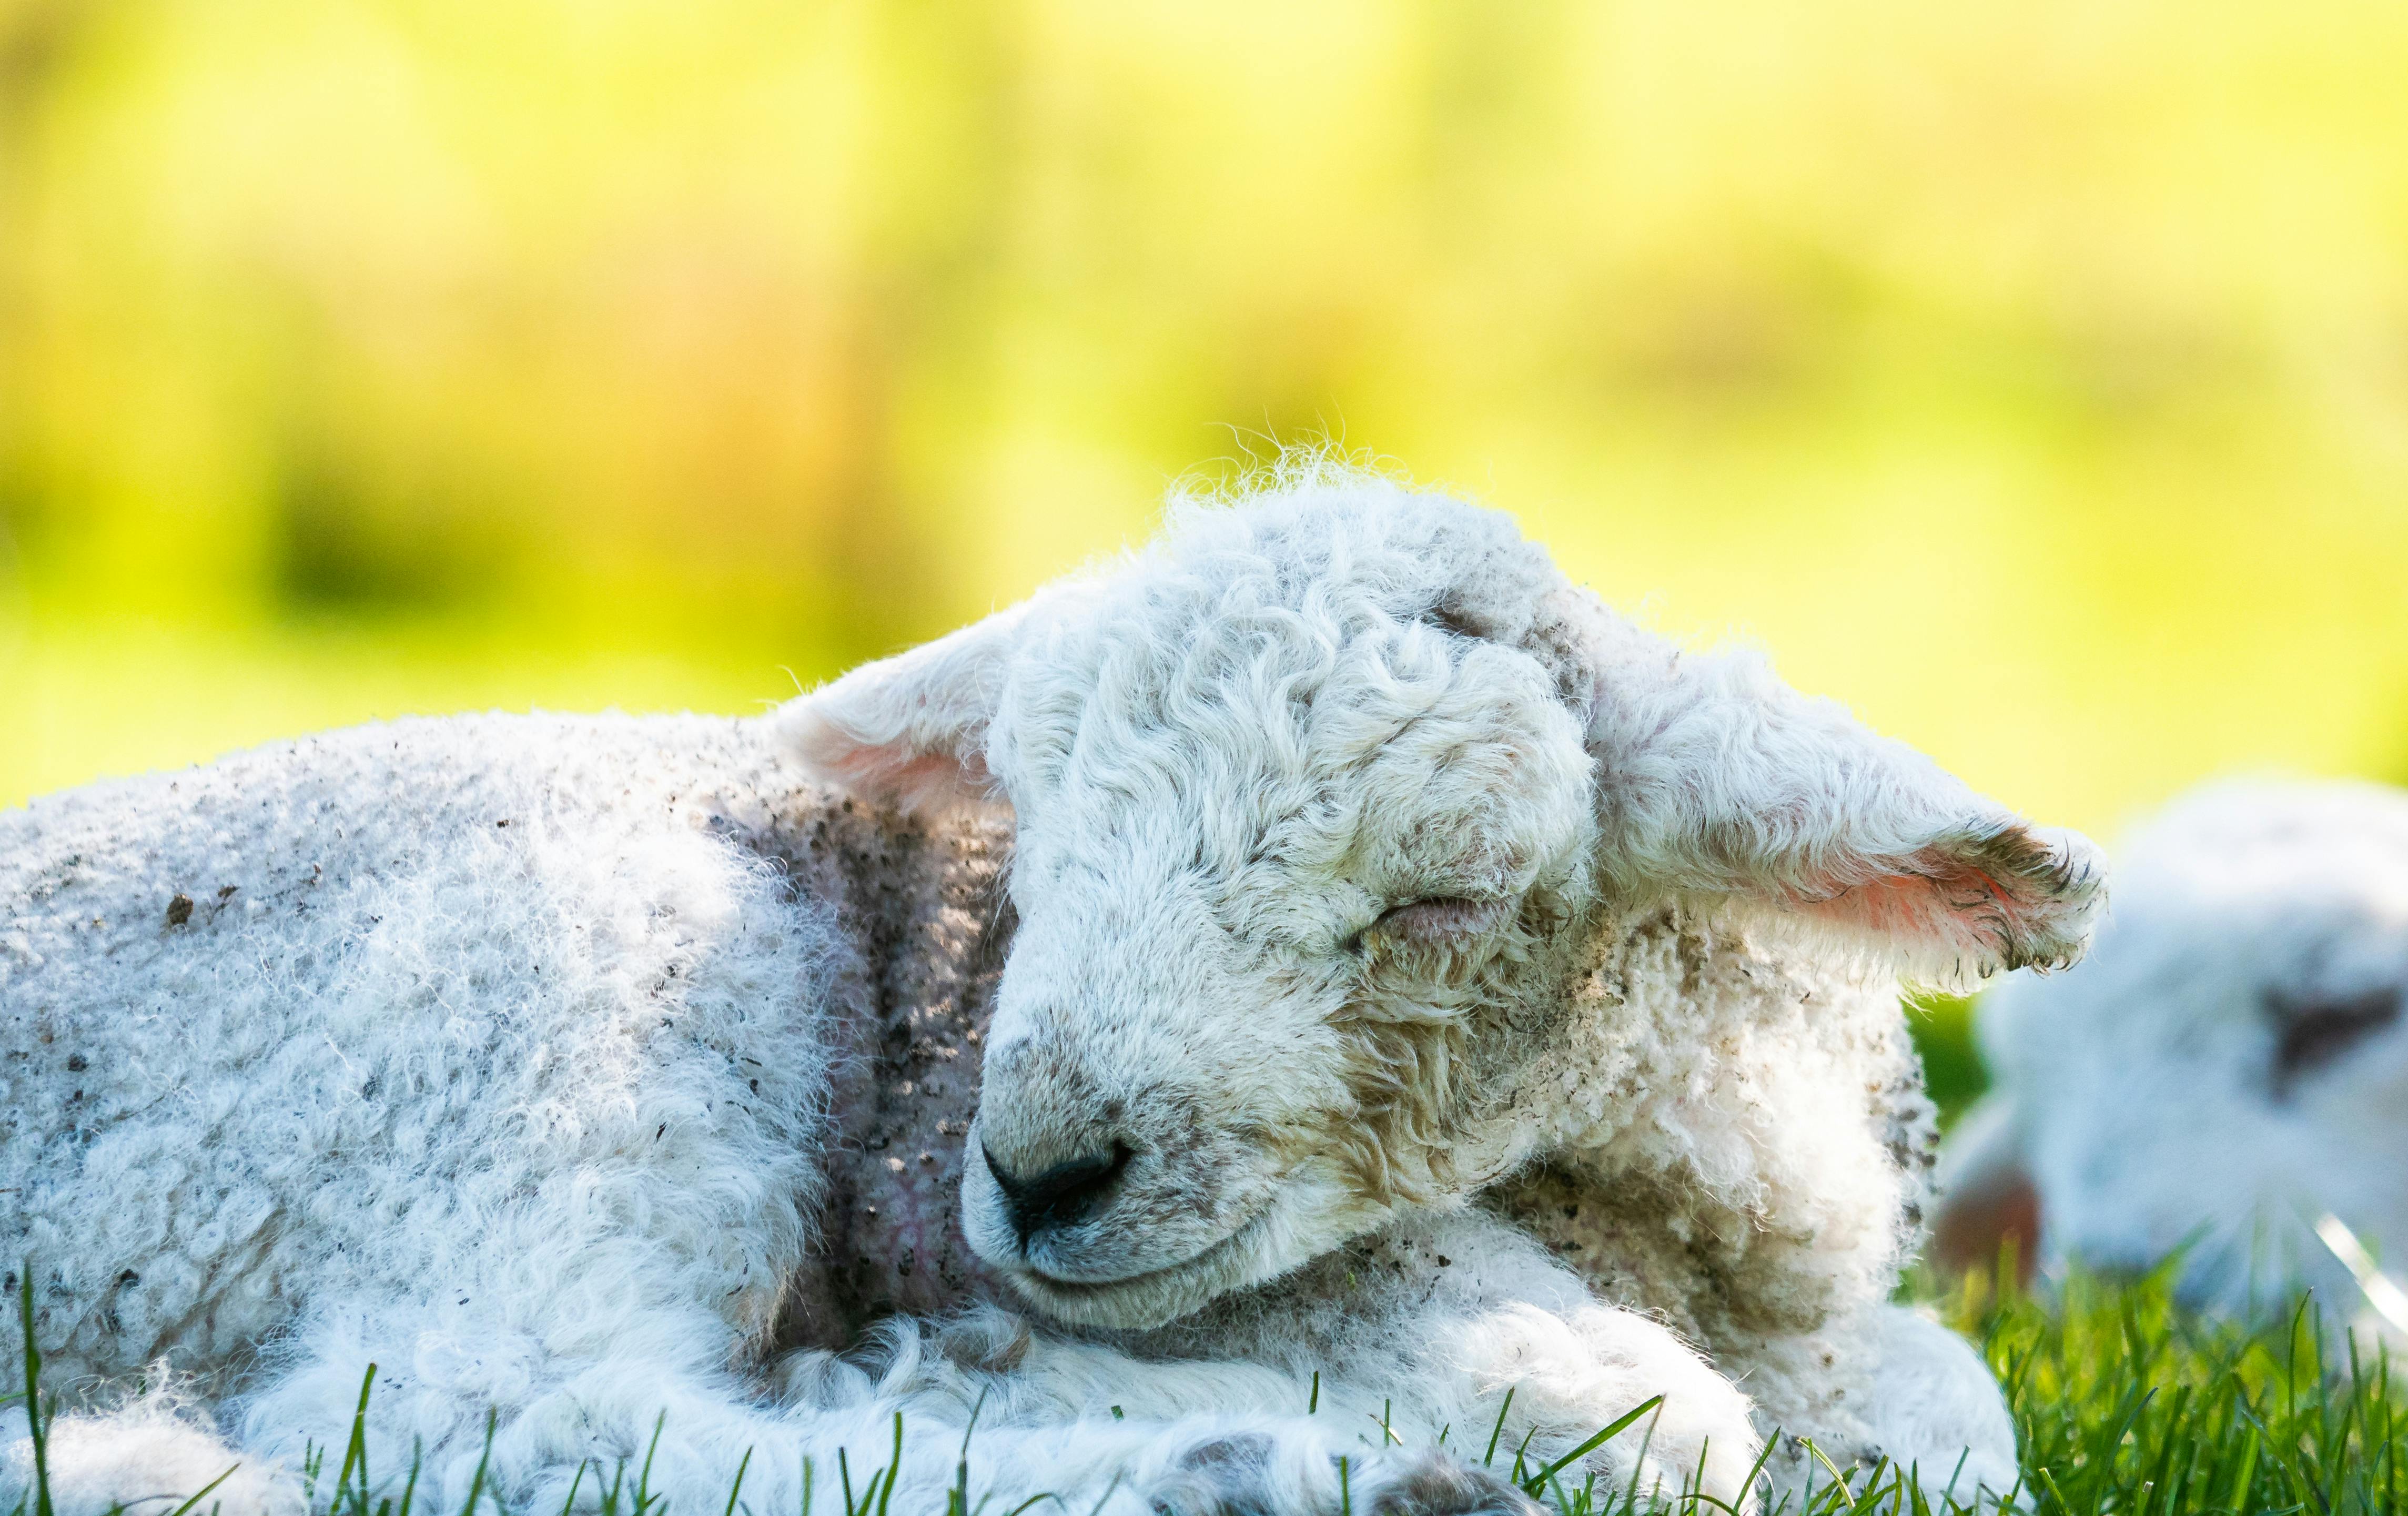
M 819 888 L 754 847 L 775 821 Z M 7 816 L 0 1215 L 55 1372 L 241 1369 L 313 1304 L 414 1280 L 458 1362 L 385 1369 L 438 1386 L 508 1372 L 527 1287 L 609 1336 L 665 1304 L 624 1297 L 662 1263 L 679 1304 L 725 1302 L 696 1362 L 761 1343 L 831 1177 L 831 1054 L 886 967 L 843 922 L 848 854 L 884 837 L 831 821 L 756 724 L 542 717 Z M 474 1278 L 503 1259 L 515 1280 Z

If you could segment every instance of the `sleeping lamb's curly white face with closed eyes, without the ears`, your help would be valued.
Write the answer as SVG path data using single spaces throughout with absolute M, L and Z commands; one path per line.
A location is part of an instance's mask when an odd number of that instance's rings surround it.
M 1021 926 L 963 1215 L 1057 1316 L 1163 1321 L 1488 1177 L 1433 1174 L 1462 1133 L 1421 1059 L 1503 1035 L 1589 905 L 1592 763 L 1539 659 L 1305 592 L 1081 621 L 997 715 Z

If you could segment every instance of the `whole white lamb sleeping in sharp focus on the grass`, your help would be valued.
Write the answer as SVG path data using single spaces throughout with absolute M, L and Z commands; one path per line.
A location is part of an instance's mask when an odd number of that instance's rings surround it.
M 980 1400 L 997 1509 L 1524 1509 L 1430 1449 L 1659 1393 L 1592 1468 L 2013 1482 L 1885 1304 L 1890 975 L 2071 960 L 2093 849 L 1503 515 L 1291 474 L 761 719 L 366 727 L 0 859 L 0 1251 L 53 1384 L 209 1408 L 63 1420 L 67 1516 L 291 1511 L 371 1362 L 453 1509 L 486 1408 L 513 1509 L 667 1417 L 655 1494 L 792 1511 L 898 1413 L 937 1509 Z

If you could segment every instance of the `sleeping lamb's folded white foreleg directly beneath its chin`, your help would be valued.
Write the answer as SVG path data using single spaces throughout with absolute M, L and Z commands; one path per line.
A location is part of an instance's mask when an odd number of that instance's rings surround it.
M 1746 1396 L 1671 1331 L 1599 1304 L 1570 1271 L 1486 1213 L 1416 1218 L 1276 1285 L 1216 1302 L 1132 1357 L 1038 1333 L 1019 1393 L 1064 1415 L 1303 1410 L 1373 1444 L 1445 1446 L 1471 1463 L 1544 1468 L 1664 1396 L 1568 1475 L 1698 1487 L 1739 1504 L 1758 1439 Z M 1317 1376 L 1317 1379 L 1315 1379 Z M 1512 1396 L 1507 1403 L 1507 1393 Z M 1642 1449 L 1645 1446 L 1645 1456 Z

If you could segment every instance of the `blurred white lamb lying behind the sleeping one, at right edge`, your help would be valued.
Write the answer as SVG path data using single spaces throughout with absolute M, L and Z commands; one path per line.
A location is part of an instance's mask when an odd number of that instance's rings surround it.
M 2408 794 L 2223 782 L 2148 823 L 2073 972 L 1979 1008 L 1934 1254 L 2148 1268 L 2186 1297 L 2408 1326 Z M 2035 1246 L 2037 1244 L 2037 1246 Z

